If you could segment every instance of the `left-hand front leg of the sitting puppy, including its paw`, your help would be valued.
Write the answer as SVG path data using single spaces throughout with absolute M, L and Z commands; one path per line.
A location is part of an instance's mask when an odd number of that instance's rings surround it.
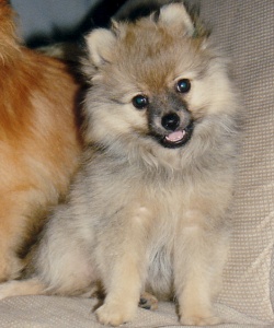
M 113 238 L 107 238 L 104 253 L 103 284 L 106 292 L 104 304 L 96 311 L 99 321 L 119 326 L 134 318 L 146 274 L 146 233 L 141 215 L 127 218 L 130 226 L 122 224 Z M 122 213 L 119 213 L 122 215 Z M 116 239 L 116 241 L 115 241 Z M 111 244 L 111 245 L 110 245 Z M 102 250 L 100 251 L 102 254 Z M 110 258 L 110 254 L 113 255 Z

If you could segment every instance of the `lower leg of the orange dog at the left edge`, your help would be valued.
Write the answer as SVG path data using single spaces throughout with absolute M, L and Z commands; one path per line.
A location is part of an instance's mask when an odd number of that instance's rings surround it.
M 23 268 L 19 250 L 31 235 L 43 225 L 47 200 L 44 192 L 23 187 L 0 186 L 0 282 L 16 279 Z

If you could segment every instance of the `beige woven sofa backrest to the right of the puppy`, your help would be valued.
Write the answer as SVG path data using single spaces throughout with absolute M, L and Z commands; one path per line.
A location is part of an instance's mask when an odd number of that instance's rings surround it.
M 246 107 L 231 251 L 218 302 L 274 323 L 274 2 L 203 0 L 202 14 L 231 56 Z

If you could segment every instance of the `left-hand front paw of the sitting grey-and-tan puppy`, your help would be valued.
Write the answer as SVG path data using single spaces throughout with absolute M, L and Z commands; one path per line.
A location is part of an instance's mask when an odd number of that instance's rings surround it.
M 134 311 L 123 307 L 123 303 L 118 305 L 103 304 L 96 312 L 98 320 L 103 325 L 119 326 L 134 318 Z

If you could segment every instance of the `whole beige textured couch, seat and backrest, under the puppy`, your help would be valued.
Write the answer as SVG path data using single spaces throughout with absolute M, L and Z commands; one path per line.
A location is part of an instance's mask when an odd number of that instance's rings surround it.
M 190 0 L 194 1 L 194 0 Z M 230 256 L 216 311 L 220 327 L 274 327 L 274 1 L 203 0 L 212 38 L 231 58 L 242 94 L 243 137 Z M 21 296 L 0 302 L 0 328 L 90 328 L 94 300 Z M 123 306 L 123 304 L 121 304 Z M 138 309 L 124 327 L 178 327 L 175 306 Z

